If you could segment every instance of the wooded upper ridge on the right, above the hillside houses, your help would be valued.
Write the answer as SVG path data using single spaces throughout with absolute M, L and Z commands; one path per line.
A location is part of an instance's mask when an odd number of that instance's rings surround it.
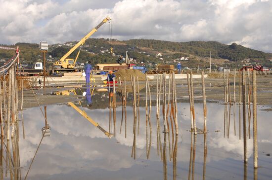
M 262 51 L 250 49 L 236 43 L 227 45 L 217 41 L 171 42 L 153 39 L 131 39 L 123 42 L 129 45 L 152 48 L 158 51 L 179 51 L 200 57 L 208 57 L 211 51 L 211 56 L 213 58 L 228 59 L 230 61 L 237 61 L 248 58 L 272 58 L 272 53 L 265 53 Z

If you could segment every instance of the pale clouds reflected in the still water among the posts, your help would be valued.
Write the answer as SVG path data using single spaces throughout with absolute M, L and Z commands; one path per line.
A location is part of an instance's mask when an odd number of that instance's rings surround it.
M 243 142 L 238 140 L 237 135 L 233 136 L 230 131 L 229 139 L 223 138 L 224 127 L 224 105 L 207 104 L 207 128 L 210 131 L 207 135 L 208 157 L 207 162 L 211 160 L 219 161 L 225 158 L 239 159 L 243 154 Z M 184 109 L 185 108 L 185 109 Z M 178 162 L 189 162 L 190 155 L 190 133 L 187 132 L 190 128 L 190 112 L 188 103 L 179 103 L 178 109 L 181 109 L 178 114 L 179 119 L 179 144 L 178 144 Z M 109 109 L 94 109 L 84 108 L 91 118 L 98 122 L 101 127 L 108 131 L 108 115 Z M 33 111 L 36 115 L 33 116 Z M 118 171 L 122 168 L 130 168 L 139 163 L 131 157 L 131 146 L 133 144 L 133 114 L 132 108 L 128 107 L 127 118 L 127 139 L 125 139 L 125 119 L 123 120 L 122 134 L 119 134 L 121 123 L 122 107 L 116 109 L 116 140 L 108 139 L 100 130 L 94 127 L 88 120 L 82 117 L 76 110 L 65 105 L 54 105 L 47 107 L 47 119 L 51 127 L 51 136 L 46 137 L 38 151 L 34 162 L 31 176 L 34 174 L 45 174 L 45 167 L 48 174 L 71 173 L 75 170 L 90 171 L 92 168 L 104 169 L 109 171 Z M 156 155 L 156 108 L 152 107 L 152 147 L 151 160 L 159 161 Z M 195 104 L 197 127 L 203 127 L 203 106 Z M 136 136 L 136 154 L 137 157 L 145 158 L 145 108 L 140 108 L 140 134 Z M 267 118 L 271 113 L 263 113 L 258 111 L 258 128 L 259 132 L 270 127 Z M 238 115 L 238 110 L 236 110 Z M 26 109 L 25 117 L 25 132 L 26 140 L 21 140 L 20 156 L 22 166 L 28 166 L 31 161 L 36 147 L 39 144 L 42 136 L 41 128 L 44 126 L 44 118 L 38 108 Z M 161 114 L 161 121 L 162 121 Z M 231 117 L 232 119 L 232 117 Z M 233 119 L 231 123 L 233 122 Z M 238 116 L 236 117 L 238 124 Z M 265 126 L 263 125 L 265 124 Z M 232 127 L 231 127 L 232 128 Z M 149 129 L 148 129 L 149 130 Z M 215 133 L 215 130 L 221 130 L 220 133 Z M 163 131 L 163 123 L 161 122 L 161 131 Z M 22 133 L 22 132 L 21 132 Z M 268 139 L 272 136 L 271 131 L 266 131 L 265 136 L 259 134 L 259 141 Z M 21 136 L 22 137 L 22 136 Z M 182 138 L 181 138 L 182 137 Z M 118 143 L 116 143 L 116 141 Z M 163 142 L 163 135 L 162 135 Z M 199 147 L 200 146 L 200 147 Z M 196 162 L 201 162 L 203 159 L 203 135 L 197 136 Z M 269 147 L 269 146 L 268 146 Z M 252 140 L 248 141 L 249 155 L 253 151 Z M 226 153 L 229 152 L 229 153 Z

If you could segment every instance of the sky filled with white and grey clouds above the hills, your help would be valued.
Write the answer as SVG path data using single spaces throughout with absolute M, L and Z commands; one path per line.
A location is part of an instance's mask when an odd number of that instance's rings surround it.
M 120 40 L 215 40 L 272 52 L 272 0 L 0 0 L 0 8 L 0 44 L 79 40 L 109 15 Z M 109 37 L 109 27 L 92 37 Z

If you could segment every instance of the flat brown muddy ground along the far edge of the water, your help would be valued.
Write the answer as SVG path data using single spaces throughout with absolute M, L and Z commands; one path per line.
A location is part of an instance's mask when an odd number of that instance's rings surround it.
M 231 101 L 234 101 L 233 98 L 233 77 L 229 78 L 230 80 L 230 92 L 231 92 Z M 145 82 L 140 81 L 140 84 L 144 86 Z M 194 79 L 194 99 L 195 102 L 202 101 L 202 85 L 201 79 Z M 97 83 L 97 86 L 102 85 Z M 156 95 L 156 81 L 150 81 L 151 92 L 152 92 L 152 100 L 155 99 Z M 128 89 L 131 86 L 128 82 Z M 186 102 L 188 101 L 188 88 L 187 88 L 187 79 L 176 80 L 177 86 L 177 98 L 178 101 Z M 86 87 L 85 87 L 86 88 Z M 99 89 L 99 87 L 95 87 Z M 102 87 L 106 88 L 106 87 Z M 43 89 L 34 89 L 35 96 L 41 106 L 51 105 L 51 104 L 59 104 L 66 103 L 71 101 L 78 101 L 79 99 L 84 98 L 82 94 L 74 95 L 70 93 L 70 96 L 57 96 L 54 92 L 63 91 L 73 88 L 55 88 L 55 87 L 46 87 L 46 90 Z M 79 89 L 76 87 L 76 89 Z M 81 92 L 84 91 L 84 85 L 81 89 Z M 215 102 L 215 103 L 224 103 L 224 80 L 223 78 L 205 78 L 205 89 L 206 89 L 206 100 L 207 102 Z M 118 90 L 118 89 L 117 89 Z M 246 84 L 246 92 L 248 92 L 248 84 Z M 94 94 L 97 91 L 94 91 Z M 145 98 L 145 89 L 143 88 L 140 91 L 141 98 Z M 20 93 L 19 93 L 20 96 Z M 235 83 L 235 97 L 236 102 L 239 102 L 239 79 L 236 77 Z M 247 97 L 247 96 L 246 96 Z M 31 90 L 24 91 L 24 101 L 23 108 L 31 108 L 39 106 L 36 98 L 34 97 Z M 20 97 L 19 97 L 20 99 Z M 252 99 L 252 98 L 251 98 Z M 242 101 L 242 96 L 241 96 Z M 272 75 L 257 75 L 257 103 L 258 105 L 268 105 L 272 107 Z M 95 105 L 94 105 L 95 106 Z M 272 108 L 268 108 L 268 110 L 272 110 Z

